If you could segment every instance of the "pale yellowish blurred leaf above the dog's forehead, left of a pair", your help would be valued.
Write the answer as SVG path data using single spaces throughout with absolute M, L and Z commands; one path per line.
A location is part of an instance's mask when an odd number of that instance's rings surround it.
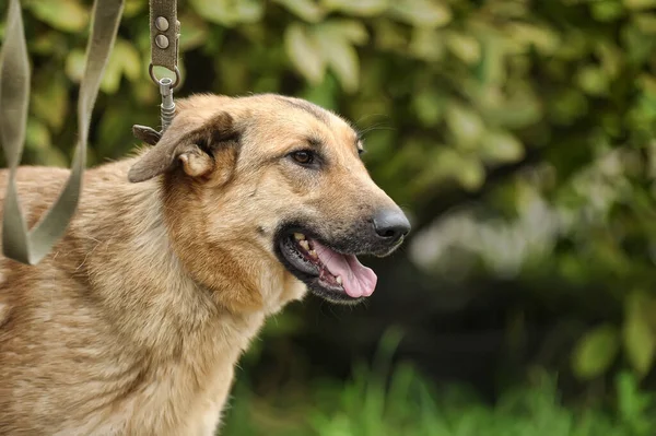
M 314 34 L 292 23 L 284 31 L 284 47 L 293 66 L 308 82 L 318 84 L 326 73 L 326 59 Z

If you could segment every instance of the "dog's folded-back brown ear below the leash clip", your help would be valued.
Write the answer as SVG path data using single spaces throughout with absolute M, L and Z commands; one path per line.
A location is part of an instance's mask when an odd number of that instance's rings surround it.
M 145 181 L 177 165 L 187 175 L 201 177 L 214 169 L 213 151 L 237 137 L 232 117 L 224 111 L 192 127 L 188 120 L 176 117 L 157 143 L 132 165 L 128 179 L 133 184 Z

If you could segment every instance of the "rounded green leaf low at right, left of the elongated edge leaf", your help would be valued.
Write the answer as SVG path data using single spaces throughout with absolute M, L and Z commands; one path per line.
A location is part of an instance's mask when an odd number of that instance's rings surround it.
M 620 350 L 620 334 L 612 325 L 601 325 L 588 331 L 576 344 L 572 355 L 572 369 L 581 379 L 589 380 L 602 375 L 616 360 Z

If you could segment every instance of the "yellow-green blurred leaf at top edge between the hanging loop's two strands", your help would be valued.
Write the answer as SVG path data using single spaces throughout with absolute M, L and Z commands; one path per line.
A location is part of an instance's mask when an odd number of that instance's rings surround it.
M 25 2 L 37 20 L 62 32 L 81 32 L 89 23 L 89 12 L 77 0 L 32 0 Z

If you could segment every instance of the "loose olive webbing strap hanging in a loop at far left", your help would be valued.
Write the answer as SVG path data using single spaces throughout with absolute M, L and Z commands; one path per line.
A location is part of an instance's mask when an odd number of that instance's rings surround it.
M 78 99 L 79 139 L 71 175 L 55 204 L 28 231 L 19 203 L 15 175 L 25 140 L 30 66 L 21 5 L 19 0 L 10 0 L 4 47 L 0 55 L 0 141 L 10 169 L 2 220 L 2 251 L 10 259 L 27 264 L 38 263 L 63 235 L 75 212 L 86 164 L 91 113 L 116 38 L 122 5 L 124 0 L 94 1 L 86 64 Z

